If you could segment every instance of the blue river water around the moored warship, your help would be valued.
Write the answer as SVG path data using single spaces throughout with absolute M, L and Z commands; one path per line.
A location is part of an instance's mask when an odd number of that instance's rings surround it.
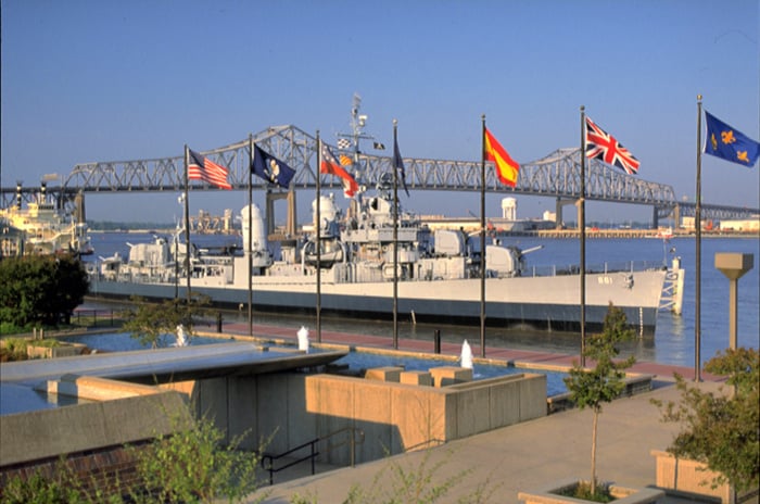
M 113 255 L 118 252 L 127 256 L 130 243 L 151 241 L 150 234 L 107 232 L 93 234 L 92 244 L 96 254 L 88 257 Z M 239 237 L 198 236 L 192 241 L 199 247 L 240 245 Z M 543 249 L 527 255 L 528 267 L 543 268 L 549 265 L 567 267 L 580 263 L 580 244 L 573 239 L 548 239 L 510 237 L 505 244 L 528 249 L 543 245 Z M 760 240 L 755 238 L 702 238 L 701 240 L 701 320 L 700 356 L 706 362 L 719 350 L 729 346 L 729 279 L 714 267 L 718 252 L 738 252 L 753 254 L 755 267 L 738 281 L 738 344 L 758 348 L 760 345 Z M 658 362 L 677 366 L 693 366 L 695 362 L 695 306 L 696 306 L 696 241 L 694 237 L 661 239 L 588 239 L 586 241 L 586 266 L 593 267 L 605 262 L 620 265 L 628 261 L 667 262 L 673 256 L 681 257 L 686 270 L 685 291 L 682 315 L 661 312 L 657 320 L 654 338 L 631 342 L 623 348 L 624 354 L 635 354 L 639 361 Z M 88 302 L 88 306 L 92 303 Z M 293 328 L 293 335 L 303 325 L 315 331 L 316 316 L 254 314 L 255 324 L 267 324 Z M 392 315 L 389 314 L 389 318 Z M 245 313 L 229 312 L 225 319 L 246 322 Z M 470 342 L 480 341 L 480 325 L 447 326 L 432 324 L 414 324 L 408 315 L 398 316 L 398 337 L 432 341 L 435 330 L 441 331 L 443 341 Z M 391 337 L 393 325 L 380 320 L 353 320 L 322 316 L 325 330 L 381 335 Z M 578 353 L 580 337 L 578 333 L 547 332 L 521 329 L 486 328 L 486 345 L 507 346 L 521 350 L 542 350 L 560 353 Z

